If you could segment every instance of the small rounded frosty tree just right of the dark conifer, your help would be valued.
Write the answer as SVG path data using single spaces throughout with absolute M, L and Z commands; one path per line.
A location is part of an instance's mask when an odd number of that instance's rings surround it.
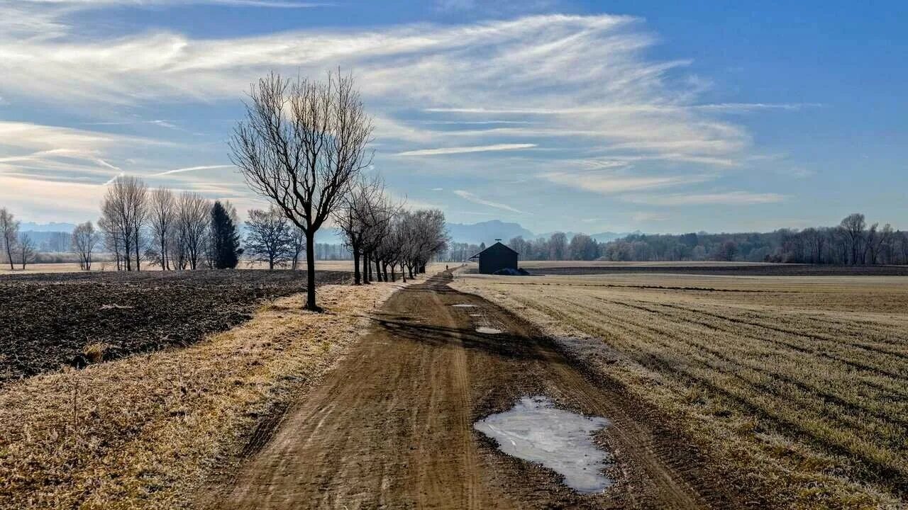
M 268 262 L 268 269 L 281 266 L 293 258 L 291 223 L 274 207 L 268 211 L 252 209 L 246 221 L 246 253 L 252 260 Z M 298 251 L 297 251 L 298 253 Z

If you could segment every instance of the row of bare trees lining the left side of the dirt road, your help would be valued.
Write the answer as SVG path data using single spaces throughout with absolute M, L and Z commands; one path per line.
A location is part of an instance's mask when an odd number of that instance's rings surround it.
M 313 247 L 327 221 L 341 226 L 353 252 L 354 284 L 368 283 L 372 275 L 387 280 L 389 268 L 392 280 L 398 267 L 412 277 L 445 249 L 440 211 L 401 211 L 380 179 L 366 175 L 371 141 L 372 121 L 360 93 L 352 77 L 340 72 L 325 82 L 274 73 L 262 78 L 252 85 L 245 119 L 233 130 L 232 162 L 252 191 L 271 201 L 273 211 L 305 238 L 307 309 L 320 310 Z M 270 266 L 278 260 L 277 245 L 286 244 L 273 211 L 251 211 L 247 223 L 256 256 L 267 257 Z

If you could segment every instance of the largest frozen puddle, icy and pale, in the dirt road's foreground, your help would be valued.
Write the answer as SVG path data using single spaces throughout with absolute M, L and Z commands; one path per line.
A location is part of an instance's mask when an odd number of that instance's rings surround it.
M 613 484 L 602 474 L 611 455 L 593 443 L 593 433 L 609 424 L 603 417 L 558 409 L 548 397 L 523 397 L 473 427 L 498 441 L 502 452 L 546 466 L 564 476 L 570 488 L 589 494 Z

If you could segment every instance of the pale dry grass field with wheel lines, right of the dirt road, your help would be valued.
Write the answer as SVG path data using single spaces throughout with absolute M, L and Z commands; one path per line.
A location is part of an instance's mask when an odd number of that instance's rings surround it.
M 905 505 L 908 278 L 468 275 L 455 286 L 576 352 L 604 343 L 614 356 L 588 361 L 676 417 L 766 505 Z

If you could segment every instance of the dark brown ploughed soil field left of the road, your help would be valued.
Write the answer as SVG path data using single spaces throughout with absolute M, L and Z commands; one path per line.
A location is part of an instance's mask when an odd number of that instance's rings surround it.
M 320 271 L 321 283 L 350 273 Z M 61 365 L 189 345 L 305 289 L 304 271 L 31 273 L 0 277 L 0 384 Z

